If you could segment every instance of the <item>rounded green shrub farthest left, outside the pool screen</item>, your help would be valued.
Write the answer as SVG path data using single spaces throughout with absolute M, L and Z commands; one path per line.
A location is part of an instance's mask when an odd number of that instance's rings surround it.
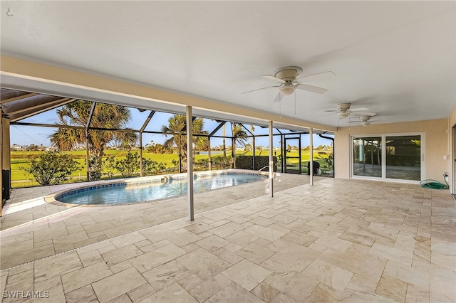
M 33 156 L 28 161 L 28 167 L 21 166 L 19 169 L 27 171 L 41 186 L 59 184 L 66 180 L 73 171 L 79 169 L 71 155 L 61 154 L 58 151 L 46 151 L 46 153 Z

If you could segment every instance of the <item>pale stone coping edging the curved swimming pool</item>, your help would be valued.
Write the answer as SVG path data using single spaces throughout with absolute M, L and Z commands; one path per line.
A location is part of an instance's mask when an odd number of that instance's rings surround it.
M 259 171 L 249 170 L 249 169 L 219 169 L 216 171 L 195 171 L 193 173 L 193 176 L 195 178 L 196 176 L 204 176 L 204 175 L 212 175 L 212 174 L 228 174 L 230 172 L 231 173 L 240 173 L 240 174 L 259 174 L 261 176 L 269 175 L 268 171 L 259 172 Z M 91 184 L 87 184 L 85 186 L 81 186 L 81 184 L 78 183 L 78 184 L 74 184 L 74 186 L 50 193 L 47 196 L 44 196 L 43 198 L 46 203 L 50 203 L 50 204 L 53 204 L 56 206 L 66 206 L 66 207 L 110 207 L 110 206 L 126 206 L 126 205 L 138 204 L 138 203 L 149 203 L 150 201 L 163 201 L 163 200 L 167 200 L 167 199 L 182 197 L 185 195 L 173 196 L 173 197 L 167 197 L 167 198 L 159 198 L 159 199 L 153 199 L 153 200 L 147 200 L 147 201 L 138 201 L 138 202 L 133 202 L 133 203 L 130 202 L 130 203 L 98 204 L 98 205 L 65 203 L 62 201 L 58 201 L 57 198 L 59 196 L 62 196 L 65 193 L 69 193 L 71 191 L 75 191 L 78 189 L 83 190 L 86 188 L 102 188 L 102 187 L 109 187 L 110 185 L 113 185 L 113 184 L 125 184 L 125 185 L 121 185 L 121 186 L 128 186 L 129 184 L 130 184 L 130 186 L 138 186 L 140 184 L 153 184 L 153 183 L 162 184 L 162 183 L 169 181 L 170 178 L 184 179 L 184 177 L 186 177 L 186 176 L 187 176 L 187 173 L 163 174 L 163 175 L 142 176 L 142 177 L 133 177 L 133 178 L 125 178 L 125 179 L 114 179 L 114 180 L 103 180 L 103 181 L 98 180 L 98 181 L 94 181 Z M 155 181 L 155 180 L 157 180 L 157 181 Z M 244 185 L 244 184 L 239 184 L 239 185 Z M 220 189 L 220 188 L 216 188 L 214 190 L 217 190 L 217 189 Z

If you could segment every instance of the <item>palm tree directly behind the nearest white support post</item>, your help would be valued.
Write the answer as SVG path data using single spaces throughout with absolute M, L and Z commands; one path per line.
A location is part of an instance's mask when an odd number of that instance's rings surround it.
M 179 155 L 179 172 L 181 172 L 182 161 L 184 162 L 184 168 L 187 169 L 187 136 L 184 132 L 186 131 L 187 118 L 185 115 L 172 115 L 168 119 L 167 125 L 162 125 L 161 131 L 165 137 L 169 137 L 164 145 L 167 148 L 177 147 L 177 154 Z M 193 134 L 209 134 L 207 131 L 203 131 L 204 120 L 202 118 L 196 118 L 192 123 Z M 207 137 L 193 136 L 192 142 L 195 149 L 207 149 L 208 140 Z M 195 155 L 195 152 L 192 153 Z

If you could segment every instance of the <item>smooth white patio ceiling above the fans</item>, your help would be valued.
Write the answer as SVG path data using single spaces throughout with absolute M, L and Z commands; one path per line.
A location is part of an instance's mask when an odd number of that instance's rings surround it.
M 1 53 L 329 126 L 447 118 L 455 1 L 1 1 Z M 332 71 L 274 102 L 261 75 Z M 356 119 L 352 115 L 350 119 Z

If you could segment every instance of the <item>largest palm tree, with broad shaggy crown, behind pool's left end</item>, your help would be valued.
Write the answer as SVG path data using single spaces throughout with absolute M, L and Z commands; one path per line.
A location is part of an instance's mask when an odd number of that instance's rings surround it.
M 89 176 L 90 180 L 100 179 L 101 176 L 101 157 L 103 156 L 106 145 L 109 142 L 117 141 L 123 146 L 135 146 L 138 136 L 134 132 L 120 132 L 118 130 L 95 130 L 89 129 L 86 132 L 86 125 L 90 118 L 92 102 L 77 100 L 57 110 L 58 119 L 61 127 L 51 134 L 51 142 L 61 150 L 70 150 L 76 145 L 88 142 L 88 151 L 92 154 L 91 164 L 88 171 L 93 172 Z M 124 129 L 131 114 L 127 107 L 119 105 L 108 105 L 99 103 L 93 110 L 90 120 L 90 127 L 105 129 Z M 82 127 L 82 128 L 68 128 Z M 90 166 L 90 165 L 89 165 Z

